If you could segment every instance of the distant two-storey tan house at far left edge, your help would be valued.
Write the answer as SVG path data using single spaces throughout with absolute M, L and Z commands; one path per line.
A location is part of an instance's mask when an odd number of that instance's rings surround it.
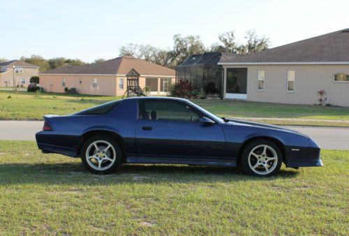
M 39 67 L 25 61 L 13 60 L 0 63 L 0 87 L 27 87 L 30 78 L 39 73 Z

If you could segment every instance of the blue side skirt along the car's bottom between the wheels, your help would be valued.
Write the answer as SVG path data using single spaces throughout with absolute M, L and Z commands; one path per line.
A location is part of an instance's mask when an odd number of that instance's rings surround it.
M 135 157 L 127 156 L 126 163 L 153 163 L 153 164 L 184 164 L 184 165 L 213 165 L 213 166 L 237 166 L 237 161 L 226 158 L 164 158 L 164 157 Z

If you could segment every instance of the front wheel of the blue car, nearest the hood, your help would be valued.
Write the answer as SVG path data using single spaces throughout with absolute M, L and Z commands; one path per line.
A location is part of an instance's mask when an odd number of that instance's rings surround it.
M 283 156 L 280 148 L 270 140 L 249 143 L 242 152 L 242 169 L 248 175 L 269 177 L 281 168 Z

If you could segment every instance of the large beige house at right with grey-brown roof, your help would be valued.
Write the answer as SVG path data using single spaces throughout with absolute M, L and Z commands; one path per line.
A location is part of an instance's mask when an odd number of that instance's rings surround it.
M 349 107 L 349 29 L 218 62 L 223 98 Z

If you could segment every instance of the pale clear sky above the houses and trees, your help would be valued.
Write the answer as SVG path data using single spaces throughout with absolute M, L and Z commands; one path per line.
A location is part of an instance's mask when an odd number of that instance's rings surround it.
M 349 1 L 0 0 L 0 58 L 38 54 L 91 62 L 127 43 L 173 46 L 174 34 L 205 46 L 235 31 L 268 36 L 272 47 L 349 28 Z

